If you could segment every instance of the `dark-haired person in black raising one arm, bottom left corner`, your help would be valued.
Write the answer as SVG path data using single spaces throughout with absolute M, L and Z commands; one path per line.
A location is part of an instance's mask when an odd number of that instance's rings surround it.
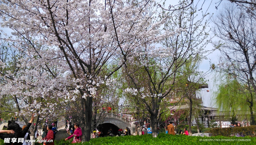
M 18 138 L 24 138 L 24 136 L 28 132 L 29 127 L 31 126 L 31 123 L 35 119 L 34 115 L 35 114 L 32 114 L 31 120 L 29 121 L 29 123 L 27 124 L 27 126 L 23 130 L 19 127 L 18 123 L 13 122 L 13 123 L 9 124 L 7 129 L 8 130 L 14 130 L 14 134 L 3 134 L 3 133 L 0 133 L 0 138 L 3 139 L 3 140 L 5 138 L 6 139 L 7 138 L 8 139 L 9 138 L 15 138 L 14 139 L 14 141 L 15 141 L 14 143 L 11 142 L 12 140 L 10 140 L 9 143 L 7 143 L 7 142 L 5 143 L 6 145 L 12 145 L 12 144 L 22 145 L 23 144 L 22 142 L 18 143 Z

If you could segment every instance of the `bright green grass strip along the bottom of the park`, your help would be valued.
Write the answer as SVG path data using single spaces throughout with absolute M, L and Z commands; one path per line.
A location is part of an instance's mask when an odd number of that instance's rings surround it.
M 124 136 L 124 137 L 101 137 L 91 139 L 89 142 L 77 143 L 77 145 L 101 145 L 101 144 L 113 144 L 113 145 L 190 145 L 190 144 L 256 144 L 256 139 L 254 137 L 194 137 L 185 135 L 168 135 L 159 134 L 157 138 L 153 138 L 152 135 L 143 136 Z M 0 144 L 4 144 L 3 140 Z M 71 140 L 65 141 L 55 141 L 55 145 L 68 145 L 71 144 Z M 36 143 L 39 145 L 39 143 Z M 40 144 L 42 145 L 42 144 Z M 74 144 L 75 145 L 75 144 Z

